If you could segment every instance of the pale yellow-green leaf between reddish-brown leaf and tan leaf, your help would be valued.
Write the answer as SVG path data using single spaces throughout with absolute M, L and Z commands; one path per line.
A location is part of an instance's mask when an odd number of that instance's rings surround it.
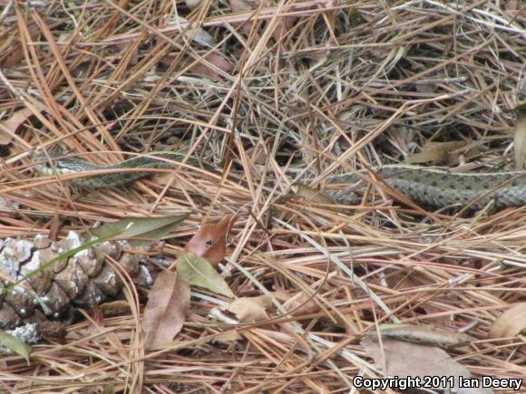
M 194 286 L 234 298 L 229 285 L 207 260 L 191 252 L 181 253 L 177 259 L 177 273 Z

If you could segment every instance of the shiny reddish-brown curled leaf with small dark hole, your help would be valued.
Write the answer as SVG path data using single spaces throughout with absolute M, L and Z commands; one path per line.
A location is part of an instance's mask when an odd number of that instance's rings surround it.
M 192 252 L 207 259 L 209 264 L 218 266 L 227 254 L 227 235 L 235 222 L 235 216 L 225 216 L 218 223 L 201 226 L 185 246 L 185 252 Z

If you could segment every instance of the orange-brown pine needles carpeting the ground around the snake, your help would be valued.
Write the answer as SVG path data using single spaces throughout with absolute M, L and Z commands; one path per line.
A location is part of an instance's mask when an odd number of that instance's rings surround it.
M 205 219 L 237 214 L 234 293 L 280 285 L 319 308 L 272 314 L 297 335 L 256 323 L 225 344 L 214 340 L 237 328 L 209 317 L 221 302 L 209 293 L 192 299 L 172 346 L 144 351 L 140 303 L 128 291 L 129 315 L 71 326 L 66 344 L 35 346 L 31 365 L 5 357 L 0 389 L 340 392 L 364 370 L 375 375 L 358 335 L 382 322 L 476 323 L 479 341 L 449 354 L 475 376 L 525 376 L 523 339 L 487 340 L 495 318 L 525 299 L 524 207 L 433 214 L 379 188 L 341 213 L 277 203 L 296 180 L 287 167 L 323 186 L 329 172 L 401 162 L 428 140 L 469 141 L 478 154 L 460 170 L 512 168 L 526 21 L 519 2 L 499 4 L 317 1 L 234 12 L 205 2 L 190 12 L 178 2 L 214 37 L 210 49 L 167 24 L 171 1 L 11 1 L 0 13 L 0 113 L 34 116 L 3 147 L 2 236 L 190 208 L 163 249 L 174 258 Z M 38 175 L 30 159 L 37 147 L 116 162 L 181 145 L 216 164 L 231 153 L 228 177 L 160 170 L 124 191 L 86 192 Z M 260 150 L 271 159 L 258 161 Z

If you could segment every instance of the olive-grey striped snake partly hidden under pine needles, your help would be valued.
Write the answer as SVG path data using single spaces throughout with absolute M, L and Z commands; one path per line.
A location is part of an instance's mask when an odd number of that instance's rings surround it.
M 180 162 L 186 156 L 181 152 L 156 152 L 113 165 L 94 164 L 85 159 L 64 156 L 60 153 L 45 153 L 35 159 L 38 160 L 37 168 L 45 175 L 85 172 L 85 177 L 72 179 L 73 185 L 99 188 L 130 184 L 136 179 L 150 175 L 149 168 L 174 168 L 176 165 L 174 162 Z M 190 157 L 187 163 L 199 166 L 200 161 Z M 144 171 L 133 169 L 144 169 Z M 104 172 L 99 174 L 93 172 L 101 170 Z M 330 176 L 326 178 L 326 183 L 356 187 L 360 184 L 363 186 L 365 181 L 374 178 L 424 206 L 481 209 L 488 204 L 493 204 L 496 208 L 526 204 L 526 172 L 524 171 L 451 172 L 441 168 L 393 164 L 374 168 L 374 175 L 366 170 L 358 170 Z

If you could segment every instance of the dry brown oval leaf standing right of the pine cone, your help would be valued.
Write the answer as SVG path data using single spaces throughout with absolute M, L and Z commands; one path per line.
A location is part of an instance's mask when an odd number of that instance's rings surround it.
M 189 309 L 190 284 L 178 274 L 161 272 L 144 308 L 144 346 L 153 348 L 171 341 L 180 332 Z

